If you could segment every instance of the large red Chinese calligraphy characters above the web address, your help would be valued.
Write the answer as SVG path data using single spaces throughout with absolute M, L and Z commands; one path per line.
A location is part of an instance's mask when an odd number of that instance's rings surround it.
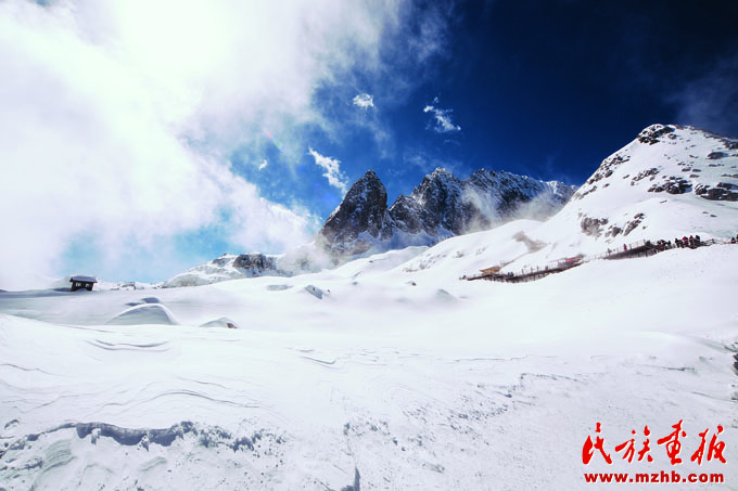
M 678 423 L 672 425 L 673 431 L 669 435 L 657 439 L 657 445 L 663 447 L 666 456 L 670 458 L 672 465 L 680 464 L 682 457 L 682 441 L 687 438 L 687 432 L 683 429 L 684 419 L 679 419 Z M 702 465 L 702 462 L 711 462 L 712 460 L 722 462 L 725 464 L 725 457 L 723 452 L 725 450 L 725 442 L 721 441 L 718 436 L 723 432 L 723 426 L 717 425 L 717 431 L 712 435 L 708 442 L 708 436 L 710 434 L 710 428 L 698 434 L 700 437 L 700 445 L 691 455 L 690 461 L 696 462 L 697 465 Z M 642 439 L 638 439 L 637 431 L 635 429 L 631 430 L 632 438 L 614 447 L 614 452 L 621 454 L 622 458 L 628 463 L 634 460 L 636 462 L 653 462 L 651 456 L 651 430 L 648 426 L 644 426 Z M 636 441 L 639 440 L 636 447 Z M 638 451 L 636 452 L 636 448 Z M 597 423 L 595 425 L 595 436 L 588 436 L 582 447 L 582 463 L 587 465 L 591 462 L 595 455 L 599 455 L 607 464 L 612 464 L 612 456 L 608 453 L 606 449 L 605 438 L 602 437 L 602 425 Z

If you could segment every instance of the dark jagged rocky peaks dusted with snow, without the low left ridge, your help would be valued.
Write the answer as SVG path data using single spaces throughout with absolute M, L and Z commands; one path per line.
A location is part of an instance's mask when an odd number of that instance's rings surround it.
M 512 218 L 545 218 L 574 191 L 560 182 L 508 172 L 481 169 L 460 180 L 436 169 L 409 196 L 398 196 L 387 208 L 386 190 L 369 170 L 352 185 L 320 236 L 326 248 L 339 256 L 428 245 Z

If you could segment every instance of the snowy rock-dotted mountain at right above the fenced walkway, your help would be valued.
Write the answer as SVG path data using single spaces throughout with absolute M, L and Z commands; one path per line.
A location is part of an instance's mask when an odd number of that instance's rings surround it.
M 608 158 L 550 219 L 517 220 L 451 237 L 409 261 L 408 271 L 454 263 L 447 277 L 501 266 L 545 268 L 638 241 L 738 233 L 738 140 L 691 127 L 652 125 Z M 437 274 L 437 273 L 436 273 Z

